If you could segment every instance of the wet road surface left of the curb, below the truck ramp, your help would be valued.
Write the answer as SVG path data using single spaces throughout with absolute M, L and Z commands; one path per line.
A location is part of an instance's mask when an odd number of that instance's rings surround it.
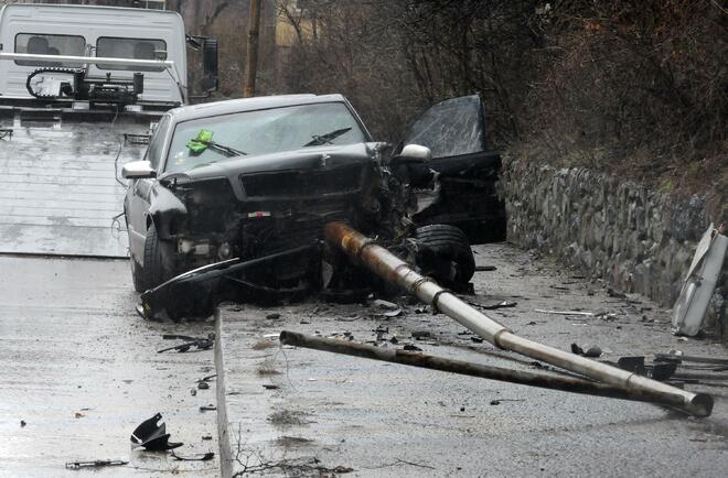
M 0 476 L 78 476 L 66 461 L 121 459 L 94 476 L 218 476 L 213 351 L 157 354 L 212 324 L 156 324 L 133 312 L 125 260 L 0 257 Z M 129 435 L 161 412 L 179 455 L 130 450 Z M 23 426 L 21 421 L 25 423 Z M 203 439 L 208 437 L 210 439 Z

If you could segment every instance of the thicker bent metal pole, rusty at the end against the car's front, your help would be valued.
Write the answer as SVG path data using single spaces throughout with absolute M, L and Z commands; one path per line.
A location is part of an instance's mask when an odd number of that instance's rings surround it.
M 683 399 L 681 408 L 696 416 L 708 416 L 713 411 L 713 398 L 708 394 L 687 392 L 636 373 L 518 337 L 439 286 L 435 281 L 418 274 L 392 252 L 375 245 L 372 239 L 343 222 L 326 224 L 324 235 L 326 241 L 341 248 L 354 260 L 361 261 L 375 274 L 399 285 L 426 304 L 431 304 L 496 347 L 513 350 L 623 389 L 679 395 Z

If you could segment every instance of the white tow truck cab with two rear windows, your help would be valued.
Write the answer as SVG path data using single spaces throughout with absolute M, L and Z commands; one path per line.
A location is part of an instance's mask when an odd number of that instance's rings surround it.
M 111 78 L 132 82 L 135 73 L 143 75 L 143 93 L 137 104 L 178 106 L 189 102 L 186 46 L 206 47 L 208 39 L 196 42 L 185 36 L 179 13 L 138 8 L 89 7 L 64 4 L 9 4 L 0 9 L 0 97 L 33 99 L 29 93 L 29 75 L 38 68 L 82 68 L 86 78 Z M 216 69 L 216 43 L 214 63 Z M 167 67 L 142 64 L 103 64 L 47 58 L 19 58 L 9 54 L 73 57 L 125 58 L 129 61 L 167 62 Z M 0 58 L 3 59 L 3 58 Z M 132 63 L 132 62 L 130 62 Z M 205 72 L 214 76 L 216 72 Z M 139 75 L 138 75 L 139 76 Z M 40 80 L 38 80 L 40 79 Z M 56 95 L 68 74 L 46 72 L 33 88 L 43 95 Z M 205 83 L 214 89 L 216 80 Z M 63 95 L 61 95 L 63 96 Z

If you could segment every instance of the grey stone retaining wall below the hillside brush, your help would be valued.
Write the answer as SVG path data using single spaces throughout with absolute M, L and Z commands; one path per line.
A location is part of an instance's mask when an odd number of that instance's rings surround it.
M 698 240 L 721 219 L 710 217 L 698 196 L 679 198 L 624 177 L 525 160 L 504 161 L 501 192 L 508 241 L 665 307 L 679 294 Z M 708 313 L 708 325 L 720 324 L 720 334 L 726 269 Z

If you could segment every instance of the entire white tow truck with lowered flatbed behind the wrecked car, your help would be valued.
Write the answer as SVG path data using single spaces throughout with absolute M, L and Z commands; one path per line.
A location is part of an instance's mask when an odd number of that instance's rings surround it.
M 164 111 L 216 88 L 217 42 L 186 35 L 176 12 L 2 7 L 0 253 L 126 257 L 121 166 Z

